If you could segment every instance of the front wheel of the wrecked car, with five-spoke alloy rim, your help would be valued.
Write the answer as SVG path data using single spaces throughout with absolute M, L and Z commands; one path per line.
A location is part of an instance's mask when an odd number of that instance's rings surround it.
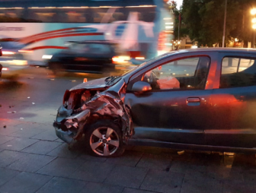
M 120 156 L 125 151 L 122 132 L 118 125 L 109 120 L 98 121 L 84 132 L 89 154 L 100 157 Z

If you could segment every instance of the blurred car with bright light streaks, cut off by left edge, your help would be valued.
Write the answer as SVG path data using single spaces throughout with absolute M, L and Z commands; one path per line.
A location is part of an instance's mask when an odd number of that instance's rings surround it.
M 19 43 L 17 39 L 5 38 L 0 39 L 0 46 L 2 47 L 0 62 L 3 65 L 4 74 L 28 67 L 28 61 L 24 58 L 24 54 L 31 51 L 22 50 L 26 46 L 25 44 Z

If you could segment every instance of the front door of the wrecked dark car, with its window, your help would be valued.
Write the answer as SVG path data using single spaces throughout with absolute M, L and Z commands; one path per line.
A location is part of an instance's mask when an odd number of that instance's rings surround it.
M 204 144 L 214 70 L 213 53 L 190 53 L 154 63 L 137 74 L 129 82 L 125 96 L 134 121 L 133 139 Z M 157 85 L 151 82 L 149 92 L 131 91 L 136 81 L 147 81 L 150 72 L 158 78 Z

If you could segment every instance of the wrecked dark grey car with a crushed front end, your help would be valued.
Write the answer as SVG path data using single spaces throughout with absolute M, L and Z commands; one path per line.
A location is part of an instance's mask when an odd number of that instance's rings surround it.
M 255 153 L 255 116 L 256 51 L 199 48 L 66 90 L 54 127 L 95 156 L 124 145 Z

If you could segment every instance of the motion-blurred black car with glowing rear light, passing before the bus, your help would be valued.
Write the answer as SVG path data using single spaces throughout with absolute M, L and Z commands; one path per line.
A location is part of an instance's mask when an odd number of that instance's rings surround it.
M 125 63 L 130 58 L 119 56 L 115 43 L 109 41 L 69 42 L 66 50 L 53 54 L 48 66 L 54 72 L 102 73 L 115 70 L 117 63 Z

